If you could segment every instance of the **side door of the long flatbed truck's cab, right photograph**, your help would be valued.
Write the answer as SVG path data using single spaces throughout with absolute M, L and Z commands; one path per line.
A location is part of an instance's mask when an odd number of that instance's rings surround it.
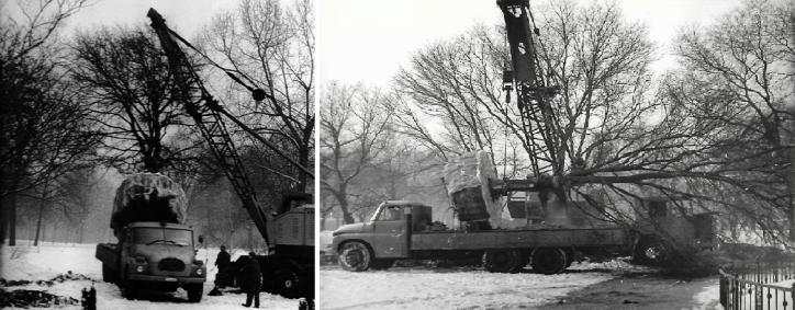
M 406 232 L 403 225 L 405 215 L 401 210 L 402 206 L 385 206 L 372 222 L 376 259 L 402 257 Z

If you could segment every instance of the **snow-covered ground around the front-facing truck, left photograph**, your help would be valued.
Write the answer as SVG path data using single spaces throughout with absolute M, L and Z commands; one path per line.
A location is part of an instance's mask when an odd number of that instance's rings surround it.
M 97 309 L 243 309 L 240 303 L 245 302 L 245 294 L 235 294 L 234 290 L 225 291 L 224 296 L 208 296 L 213 288 L 213 279 L 217 273 L 214 267 L 217 249 L 199 250 L 199 259 L 208 264 L 208 282 L 204 283 L 204 296 L 200 303 L 188 302 L 187 292 L 182 289 L 175 294 L 159 294 L 149 296 L 150 300 L 126 300 L 121 296 L 115 285 L 102 282 L 102 264 L 94 259 L 97 244 L 63 244 L 49 242 L 40 243 L 41 246 L 29 248 L 25 241 L 13 248 L 3 246 L 0 257 L 0 278 L 7 280 L 48 280 L 59 274 L 71 271 L 74 274 L 88 276 L 92 280 L 65 280 L 55 283 L 52 287 L 36 284 L 25 286 L 1 287 L 7 291 L 18 289 L 45 290 L 60 297 L 71 297 L 80 300 L 80 291 L 83 288 L 94 286 L 97 289 Z M 22 253 L 21 253 L 22 252 Z M 235 255 L 233 260 L 239 256 Z M 11 260 L 11 256 L 20 255 Z M 259 295 L 261 309 L 298 309 L 298 299 L 287 299 L 280 296 L 261 292 Z M 29 308 L 40 309 L 40 308 Z M 65 306 L 59 309 L 81 309 L 79 305 Z

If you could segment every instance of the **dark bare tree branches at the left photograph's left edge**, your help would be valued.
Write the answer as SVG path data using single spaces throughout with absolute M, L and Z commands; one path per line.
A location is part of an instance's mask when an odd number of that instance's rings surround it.
M 86 1 L 3 3 L 0 19 L 0 242 L 15 244 L 15 194 L 71 170 L 96 147 L 64 78 L 57 31 Z M 7 7 L 9 5 L 9 7 Z M 12 13 L 14 12 L 14 13 Z

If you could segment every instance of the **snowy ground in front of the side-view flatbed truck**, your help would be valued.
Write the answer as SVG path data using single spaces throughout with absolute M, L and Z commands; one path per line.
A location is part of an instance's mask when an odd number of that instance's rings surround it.
M 332 268 L 321 271 L 318 308 L 534 309 L 569 291 L 611 278 L 598 272 L 544 276 L 427 268 L 349 273 Z

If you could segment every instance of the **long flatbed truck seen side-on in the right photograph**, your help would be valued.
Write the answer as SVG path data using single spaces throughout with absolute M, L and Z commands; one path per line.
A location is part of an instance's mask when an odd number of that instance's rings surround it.
M 663 240 L 710 248 L 698 237 L 707 236 L 685 218 L 669 218 L 656 225 L 668 231 Z M 641 229 L 618 225 L 559 227 L 539 225 L 527 229 L 458 231 L 436 229 L 432 208 L 422 203 L 388 200 L 367 222 L 345 225 L 334 231 L 333 250 L 340 266 L 351 272 L 385 269 L 396 260 L 455 260 L 480 257 L 493 273 L 517 273 L 527 264 L 541 274 L 558 274 L 575 255 L 630 255 L 652 251 L 649 225 Z M 646 229 L 642 229 L 646 228 Z M 698 234 L 701 233 L 701 236 Z M 709 239 L 710 240 L 710 239 Z M 643 249 L 639 249 L 646 246 Z M 657 249 L 659 251 L 659 249 Z

